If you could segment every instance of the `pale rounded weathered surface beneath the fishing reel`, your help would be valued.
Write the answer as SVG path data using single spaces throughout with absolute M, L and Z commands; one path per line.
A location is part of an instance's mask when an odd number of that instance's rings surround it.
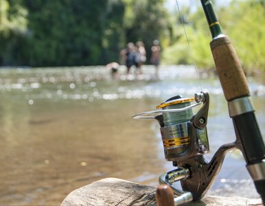
M 155 187 L 139 185 L 122 179 L 107 178 L 74 190 L 61 205 L 156 205 L 156 190 Z M 262 205 L 262 201 L 240 197 L 207 196 L 202 201 L 185 205 Z

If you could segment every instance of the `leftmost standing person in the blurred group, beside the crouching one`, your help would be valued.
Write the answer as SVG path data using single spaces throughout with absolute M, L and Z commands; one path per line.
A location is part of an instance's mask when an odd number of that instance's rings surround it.
M 125 65 L 127 68 L 127 74 L 130 73 L 130 67 L 135 65 L 136 49 L 134 43 L 128 43 L 126 49 L 122 49 L 120 52 L 122 58 L 125 59 Z

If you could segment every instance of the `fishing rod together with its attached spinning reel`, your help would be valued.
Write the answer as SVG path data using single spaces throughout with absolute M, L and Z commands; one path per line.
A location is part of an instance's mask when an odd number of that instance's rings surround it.
M 161 174 L 159 183 L 170 186 L 178 196 L 174 198 L 174 205 L 203 198 L 214 183 L 225 155 L 235 148 L 242 151 L 246 168 L 265 203 L 265 147 L 246 76 L 229 37 L 222 33 L 211 1 L 201 0 L 201 3 L 213 37 L 211 52 L 228 102 L 229 115 L 233 119 L 236 140 L 222 145 L 211 161 L 205 160 L 203 155 L 209 152 L 209 93 L 204 91 L 196 93 L 193 98 L 176 95 L 159 104 L 156 111 L 139 113 L 133 118 L 156 119 L 159 122 L 165 159 L 172 161 L 176 167 L 176 170 Z M 195 106 L 200 106 L 196 114 L 192 111 Z M 151 116 L 157 113 L 159 115 Z M 176 187 L 177 181 L 181 182 L 182 189 Z M 159 202 L 163 194 L 170 192 L 161 190 L 157 196 Z

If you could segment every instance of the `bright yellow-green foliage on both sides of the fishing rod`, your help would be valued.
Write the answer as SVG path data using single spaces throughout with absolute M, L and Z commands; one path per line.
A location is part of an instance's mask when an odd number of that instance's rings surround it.
M 230 36 L 244 71 L 246 73 L 253 73 L 257 70 L 264 72 L 264 1 L 232 1 L 228 7 L 216 8 L 216 11 L 223 32 Z M 191 63 L 191 55 L 193 55 L 199 68 L 214 68 L 214 60 L 209 47 L 211 35 L 203 10 L 198 8 L 196 12 L 186 12 L 185 15 L 186 21 L 184 23 L 192 52 L 189 51 L 185 38 L 178 38 L 173 45 L 165 49 L 163 60 L 165 63 L 189 64 Z M 176 21 L 176 28 L 181 30 L 180 21 Z M 184 35 L 183 33 L 182 36 Z

